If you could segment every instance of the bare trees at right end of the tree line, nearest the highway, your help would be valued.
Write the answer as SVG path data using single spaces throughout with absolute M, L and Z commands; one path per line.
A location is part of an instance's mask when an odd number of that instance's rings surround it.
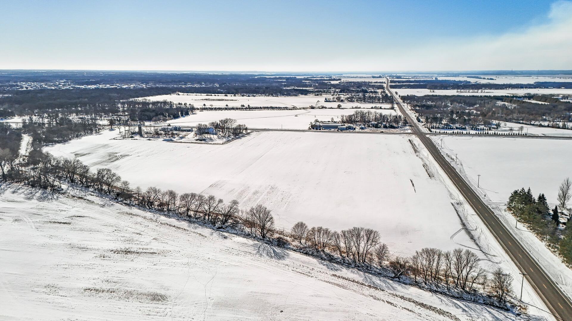
M 486 271 L 480 267 L 478 255 L 467 249 L 422 248 L 411 256 L 392 257 L 387 244 L 380 242 L 379 232 L 371 228 L 352 227 L 338 232 L 321 226 L 309 228 L 304 222 L 294 224 L 289 236 L 301 249 L 337 256 L 342 262 L 362 267 L 385 269 L 394 278 L 410 276 L 416 283 L 447 290 L 454 287 L 476 291 L 475 285 L 479 284 L 503 304 L 512 292 L 509 274 L 498 269 L 492 272 L 493 277 L 489 280 Z

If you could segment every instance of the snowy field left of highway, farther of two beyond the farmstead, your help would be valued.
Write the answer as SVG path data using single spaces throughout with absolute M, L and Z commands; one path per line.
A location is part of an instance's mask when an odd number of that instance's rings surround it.
M 300 95 L 300 96 L 287 96 L 287 97 L 273 97 L 273 96 L 255 96 L 255 97 L 242 97 L 242 96 L 225 96 L 225 95 L 206 95 L 206 94 L 170 94 L 158 95 L 150 97 L 141 97 L 137 99 L 149 99 L 150 101 L 172 101 L 174 103 L 188 103 L 193 104 L 194 107 L 200 108 L 203 104 L 206 107 L 240 107 L 241 105 L 251 107 L 297 107 L 300 109 L 307 109 L 310 106 L 316 105 L 316 101 L 320 102 L 320 106 L 336 108 L 341 105 L 342 108 L 360 107 L 371 108 L 374 106 L 388 107 L 390 105 L 383 103 L 357 103 L 357 102 L 324 102 L 324 98 L 335 99 L 332 96 L 315 96 L 315 95 Z M 221 99 L 221 100 L 211 100 Z

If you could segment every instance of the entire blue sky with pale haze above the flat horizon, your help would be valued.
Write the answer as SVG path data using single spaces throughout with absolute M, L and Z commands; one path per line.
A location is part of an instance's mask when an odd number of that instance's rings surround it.
M 0 1 L 0 69 L 572 69 L 570 1 Z

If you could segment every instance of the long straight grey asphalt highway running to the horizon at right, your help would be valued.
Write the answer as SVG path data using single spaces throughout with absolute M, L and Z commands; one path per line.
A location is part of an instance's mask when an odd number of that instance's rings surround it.
M 401 113 L 407 117 L 412 133 L 419 138 L 439 166 L 446 172 L 447 176 L 455 184 L 456 188 L 461 192 L 473 210 L 475 210 L 476 214 L 479 215 L 480 219 L 483 220 L 488 230 L 491 231 L 492 235 L 495 236 L 496 240 L 498 240 L 501 246 L 510 255 L 521 272 L 527 274 L 526 279 L 552 314 L 554 314 L 557 319 L 572 321 L 572 303 L 570 299 L 554 284 L 536 260 L 534 260 L 518 240 L 514 238 L 501 220 L 496 217 L 494 212 L 484 204 L 475 191 L 473 191 L 458 172 L 456 172 L 455 168 L 439 153 L 433 141 L 419 128 L 417 122 L 410 117 L 402 104 L 398 101 L 398 98 L 389 89 L 389 79 L 387 79 L 386 87 L 388 92 L 396 99 Z M 515 278 L 519 276 L 520 275 L 514 275 Z M 517 289 L 515 289 L 515 292 L 518 292 Z

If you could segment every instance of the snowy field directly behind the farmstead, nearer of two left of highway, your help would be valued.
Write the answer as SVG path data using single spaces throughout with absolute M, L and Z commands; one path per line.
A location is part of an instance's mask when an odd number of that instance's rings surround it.
M 194 126 L 198 123 L 219 121 L 223 118 L 236 119 L 237 123 L 249 128 L 265 129 L 308 129 L 310 123 L 319 121 L 339 122 L 341 115 L 353 114 L 356 110 L 364 109 L 308 109 L 308 110 L 220 110 L 197 111 L 196 114 L 168 121 L 170 125 Z M 386 115 L 396 115 L 395 109 L 367 109 Z M 340 124 L 341 125 L 341 124 Z M 406 131 L 408 129 L 400 129 Z

